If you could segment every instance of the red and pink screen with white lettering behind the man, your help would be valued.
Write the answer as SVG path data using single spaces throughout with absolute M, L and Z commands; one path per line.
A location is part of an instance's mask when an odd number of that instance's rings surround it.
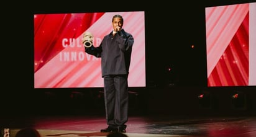
M 103 87 L 101 58 L 85 53 L 83 33 L 94 46 L 112 31 L 112 17 L 124 18 L 134 37 L 129 87 L 145 87 L 144 11 L 34 14 L 34 88 Z

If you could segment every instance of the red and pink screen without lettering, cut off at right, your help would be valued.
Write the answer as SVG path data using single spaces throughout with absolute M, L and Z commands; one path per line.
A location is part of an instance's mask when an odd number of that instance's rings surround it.
M 256 86 L 256 2 L 205 13 L 208 86 Z

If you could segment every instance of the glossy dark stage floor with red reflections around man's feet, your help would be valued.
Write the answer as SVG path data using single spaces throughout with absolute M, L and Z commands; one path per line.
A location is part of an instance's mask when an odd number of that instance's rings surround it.
M 1 118 L 15 136 L 22 128 L 35 128 L 41 136 L 106 136 L 104 115 L 37 116 Z M 2 124 L 1 124 L 2 125 Z M 3 125 L 2 125 L 3 126 Z M 127 122 L 129 137 L 142 136 L 256 136 L 256 117 L 190 117 L 171 115 L 132 115 Z

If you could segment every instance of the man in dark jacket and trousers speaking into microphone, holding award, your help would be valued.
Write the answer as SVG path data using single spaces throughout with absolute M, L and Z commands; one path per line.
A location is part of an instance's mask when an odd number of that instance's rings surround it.
M 101 73 L 104 79 L 104 102 L 107 128 L 101 132 L 126 133 L 128 120 L 128 74 L 134 37 L 124 31 L 121 15 L 112 17 L 113 30 L 105 35 L 98 47 L 85 46 L 85 52 L 101 58 Z M 86 35 L 83 43 L 88 40 Z M 86 44 L 85 44 L 86 45 Z

